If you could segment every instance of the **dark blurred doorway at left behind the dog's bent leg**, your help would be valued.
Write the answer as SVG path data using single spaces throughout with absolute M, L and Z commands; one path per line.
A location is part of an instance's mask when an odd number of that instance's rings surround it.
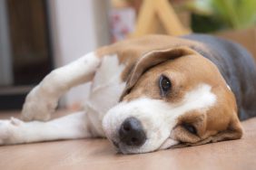
M 0 109 L 20 109 L 53 68 L 45 0 L 0 0 Z

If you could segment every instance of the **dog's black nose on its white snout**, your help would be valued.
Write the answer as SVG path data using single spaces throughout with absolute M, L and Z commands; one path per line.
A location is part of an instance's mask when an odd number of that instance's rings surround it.
M 143 126 L 137 118 L 126 118 L 119 129 L 121 142 L 127 146 L 142 146 L 146 140 Z

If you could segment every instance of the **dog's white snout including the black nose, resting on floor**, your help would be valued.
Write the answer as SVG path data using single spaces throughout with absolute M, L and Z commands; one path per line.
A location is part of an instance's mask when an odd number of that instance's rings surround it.
M 161 100 L 146 98 L 119 103 L 103 118 L 106 137 L 126 154 L 157 149 L 170 134 L 165 122 L 168 109 L 161 107 Z

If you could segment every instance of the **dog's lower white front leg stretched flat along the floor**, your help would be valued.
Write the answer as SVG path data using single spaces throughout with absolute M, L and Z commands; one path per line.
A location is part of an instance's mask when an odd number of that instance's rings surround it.
M 93 137 L 94 127 L 86 117 L 85 112 L 77 112 L 48 122 L 0 120 L 0 145 Z

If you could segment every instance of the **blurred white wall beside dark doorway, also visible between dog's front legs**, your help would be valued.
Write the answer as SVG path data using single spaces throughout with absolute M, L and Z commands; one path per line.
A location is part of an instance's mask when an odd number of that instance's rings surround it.
M 48 0 L 48 4 L 56 67 L 110 42 L 106 9 L 108 1 Z M 87 95 L 88 85 L 79 86 L 65 95 L 64 103 L 68 107 L 80 104 Z

